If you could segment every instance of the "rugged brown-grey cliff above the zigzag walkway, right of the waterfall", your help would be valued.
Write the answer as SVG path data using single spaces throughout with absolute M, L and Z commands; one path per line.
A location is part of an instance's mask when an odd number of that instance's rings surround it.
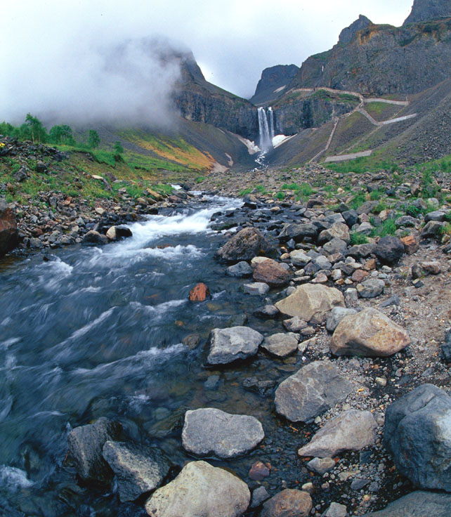
M 417 93 L 448 77 L 451 18 L 400 28 L 367 25 L 349 43 L 308 58 L 289 86 L 386 95 Z

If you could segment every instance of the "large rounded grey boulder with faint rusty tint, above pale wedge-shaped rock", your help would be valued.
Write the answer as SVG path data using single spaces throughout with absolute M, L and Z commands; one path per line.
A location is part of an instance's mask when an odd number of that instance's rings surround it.
M 291 421 L 305 422 L 345 400 L 352 390 L 352 385 L 332 362 L 315 361 L 279 385 L 275 409 Z

